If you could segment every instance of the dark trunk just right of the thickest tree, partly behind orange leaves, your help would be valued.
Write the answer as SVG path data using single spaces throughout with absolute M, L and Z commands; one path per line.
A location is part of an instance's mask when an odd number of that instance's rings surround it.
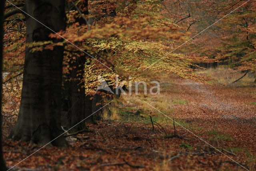
M 84 15 L 88 15 L 88 0 L 84 2 Z M 86 21 L 81 17 L 76 20 L 80 24 L 86 24 Z M 74 67 L 68 78 L 70 81 L 64 81 L 64 90 L 62 93 L 64 105 L 62 106 L 62 125 L 67 129 L 73 127 L 80 121 L 84 120 L 87 116 L 91 114 L 91 99 L 86 97 L 84 89 L 84 67 L 86 62 L 86 54 L 83 56 L 76 55 L 76 60 L 70 60 L 70 66 Z M 78 74 L 78 75 L 77 75 Z M 67 105 L 65 105 L 67 104 Z M 90 122 L 90 119 L 86 119 L 79 123 L 72 131 L 78 131 L 86 127 L 85 122 Z

